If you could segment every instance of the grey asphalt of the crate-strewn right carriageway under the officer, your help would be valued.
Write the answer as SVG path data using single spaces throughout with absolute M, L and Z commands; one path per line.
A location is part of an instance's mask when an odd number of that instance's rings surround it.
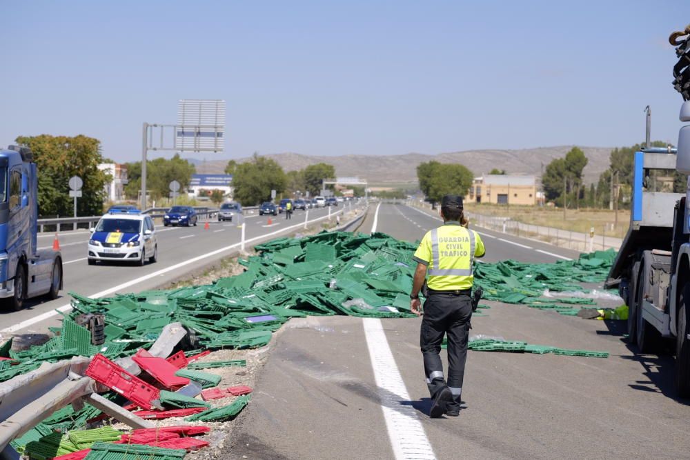
M 363 231 L 415 241 L 440 221 L 376 206 Z M 577 254 L 480 231 L 484 261 L 554 262 Z M 624 324 L 486 302 L 471 334 L 604 350 L 608 359 L 469 352 L 460 417 L 429 419 L 420 319 L 293 319 L 270 344 L 224 458 L 689 458 L 688 401 L 673 359 L 638 355 Z M 442 352 L 445 354 L 445 352 Z M 446 361 L 444 360 L 444 366 Z

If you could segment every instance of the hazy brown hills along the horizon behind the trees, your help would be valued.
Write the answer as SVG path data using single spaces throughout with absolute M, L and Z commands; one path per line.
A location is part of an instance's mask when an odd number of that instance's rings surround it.
M 359 176 L 368 183 L 385 186 L 386 184 L 416 184 L 417 165 L 424 161 L 436 160 L 441 163 L 460 163 L 469 168 L 476 176 L 486 174 L 493 168 L 504 169 L 509 174 L 527 174 L 541 177 L 542 167 L 555 158 L 564 157 L 573 146 L 526 148 L 520 150 L 466 150 L 463 152 L 440 153 L 427 155 L 407 153 L 400 155 L 340 155 L 335 157 L 311 156 L 299 153 L 267 154 L 286 171 L 299 170 L 315 163 L 329 163 L 335 166 L 339 176 Z M 584 168 L 585 183 L 599 180 L 599 174 L 609 168 L 609 147 L 580 147 L 589 159 Z M 248 161 L 249 157 L 235 159 L 239 163 Z M 223 172 L 228 159 L 200 161 L 188 159 L 200 174 L 217 174 Z

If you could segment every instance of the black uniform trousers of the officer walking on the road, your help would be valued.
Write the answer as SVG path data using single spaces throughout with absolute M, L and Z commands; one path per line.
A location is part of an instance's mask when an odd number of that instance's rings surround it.
M 472 300 L 463 294 L 429 294 L 424 302 L 420 345 L 424 356 L 424 373 L 431 397 L 446 385 L 441 363 L 441 343 L 448 336 L 448 381 L 453 402 L 448 408 L 460 408 L 460 393 L 467 359 L 467 339 L 471 328 Z

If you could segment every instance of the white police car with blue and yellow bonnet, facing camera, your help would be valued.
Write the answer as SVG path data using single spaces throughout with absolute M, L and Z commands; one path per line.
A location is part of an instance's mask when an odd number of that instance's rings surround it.
M 97 261 L 135 262 L 143 266 L 158 257 L 158 241 L 150 216 L 138 210 L 113 212 L 101 217 L 91 228 L 88 241 L 88 264 Z

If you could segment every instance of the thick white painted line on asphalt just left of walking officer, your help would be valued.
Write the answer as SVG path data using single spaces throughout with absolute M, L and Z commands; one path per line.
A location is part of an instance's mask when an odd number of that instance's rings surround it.
M 395 364 L 381 320 L 364 318 L 362 323 L 395 459 L 435 459 L 417 410 L 408 404 L 410 394 Z

